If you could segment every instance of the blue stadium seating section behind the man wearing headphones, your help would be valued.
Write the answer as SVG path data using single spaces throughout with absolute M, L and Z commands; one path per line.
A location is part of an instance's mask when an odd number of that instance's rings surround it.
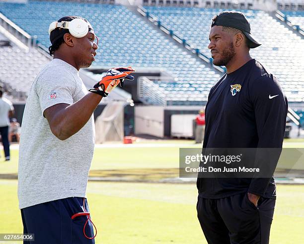
M 164 37 L 137 14 L 122 5 L 88 4 L 77 2 L 32 1 L 25 4 L 0 2 L 0 11 L 30 35 L 36 35 L 39 43 L 50 46 L 48 26 L 50 22 L 66 15 L 87 18 L 100 39 L 95 67 L 131 65 L 133 67 L 164 68 L 180 83 L 200 82 L 214 84 L 220 75 L 187 54 L 173 40 Z M 38 21 L 39 26 L 32 23 Z M 199 68 L 199 69 L 198 69 Z M 191 72 L 189 72 L 191 70 Z M 210 73 L 202 76 L 201 72 Z M 166 89 L 166 87 L 164 87 Z M 179 92 L 179 87 L 172 87 Z M 207 100 L 209 87 L 204 86 L 202 101 Z M 192 91 L 184 89 L 185 98 Z M 174 96 L 172 100 L 178 100 Z

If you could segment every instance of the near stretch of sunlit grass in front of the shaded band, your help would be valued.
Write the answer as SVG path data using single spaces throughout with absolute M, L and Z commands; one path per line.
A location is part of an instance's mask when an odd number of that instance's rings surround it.
M 0 233 L 22 233 L 17 181 L 0 180 Z M 89 182 L 96 244 L 204 244 L 195 184 Z M 278 185 L 271 244 L 303 243 L 304 186 Z M 11 243 L 11 242 L 10 242 Z

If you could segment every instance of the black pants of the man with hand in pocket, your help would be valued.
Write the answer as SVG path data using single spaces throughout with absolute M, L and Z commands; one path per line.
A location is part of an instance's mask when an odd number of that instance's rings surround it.
M 197 216 L 208 244 L 268 244 L 275 202 L 261 197 L 255 207 L 247 193 L 199 197 Z

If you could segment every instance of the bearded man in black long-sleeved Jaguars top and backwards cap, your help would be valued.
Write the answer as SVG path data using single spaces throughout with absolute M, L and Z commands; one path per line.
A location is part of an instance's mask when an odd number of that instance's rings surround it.
M 287 99 L 277 79 L 250 57 L 250 48 L 261 44 L 251 35 L 247 19 L 240 12 L 220 13 L 213 18 L 209 39 L 213 64 L 225 66 L 227 73 L 208 97 L 203 150 L 281 149 Z M 199 175 L 197 187 L 198 219 L 209 244 L 269 243 L 276 199 L 273 177 Z

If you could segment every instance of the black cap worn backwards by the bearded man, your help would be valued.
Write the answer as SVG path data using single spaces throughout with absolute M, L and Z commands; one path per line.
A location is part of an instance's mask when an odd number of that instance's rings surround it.
M 255 48 L 261 45 L 250 33 L 250 24 L 243 13 L 236 11 L 224 11 L 219 13 L 212 20 L 211 27 L 218 25 L 241 30 L 249 40 L 249 48 Z

